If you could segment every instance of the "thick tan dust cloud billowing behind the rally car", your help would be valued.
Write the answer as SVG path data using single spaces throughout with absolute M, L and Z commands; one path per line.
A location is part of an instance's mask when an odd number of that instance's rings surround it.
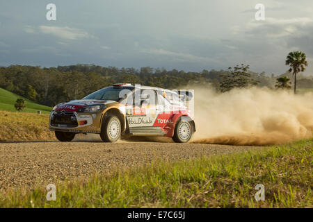
M 197 132 L 192 143 L 262 146 L 313 137 L 312 93 L 195 89 L 194 110 Z

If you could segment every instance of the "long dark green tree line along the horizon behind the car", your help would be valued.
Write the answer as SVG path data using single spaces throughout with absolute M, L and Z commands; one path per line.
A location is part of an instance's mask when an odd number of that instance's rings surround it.
M 279 76 L 266 76 L 264 72 L 255 73 L 242 65 L 229 70 L 203 70 L 185 72 L 177 69 L 153 69 L 151 67 L 117 68 L 98 65 L 69 65 L 58 67 L 38 67 L 11 65 L 0 67 L 0 87 L 14 92 L 26 99 L 43 105 L 53 106 L 61 101 L 81 99 L 97 89 L 113 83 L 140 83 L 167 89 L 180 89 L 186 85 L 205 85 L 218 91 L 227 91 L 230 78 L 244 78 L 243 83 L 259 87 L 275 88 Z M 238 75 L 243 72 L 243 76 Z M 288 71 L 280 76 L 292 76 Z M 228 76 L 228 77 L 227 77 Z M 246 76 L 246 77 L 244 77 Z M 313 87 L 313 78 L 298 76 L 298 87 Z M 305 79 L 301 82 L 302 79 Z M 246 86 L 246 85 L 244 85 Z M 225 90 L 225 87 L 228 89 Z

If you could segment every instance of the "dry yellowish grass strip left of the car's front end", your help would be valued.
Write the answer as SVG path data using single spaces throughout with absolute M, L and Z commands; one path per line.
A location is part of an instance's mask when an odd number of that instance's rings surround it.
M 0 111 L 0 142 L 55 140 L 49 114 Z

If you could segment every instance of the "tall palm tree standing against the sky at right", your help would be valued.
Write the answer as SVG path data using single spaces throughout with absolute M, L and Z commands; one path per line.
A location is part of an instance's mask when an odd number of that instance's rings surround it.
M 296 81 L 297 74 L 300 71 L 305 71 L 307 67 L 307 56 L 302 51 L 292 51 L 288 54 L 286 65 L 289 65 L 289 71 L 293 71 L 294 74 L 294 94 L 296 94 Z

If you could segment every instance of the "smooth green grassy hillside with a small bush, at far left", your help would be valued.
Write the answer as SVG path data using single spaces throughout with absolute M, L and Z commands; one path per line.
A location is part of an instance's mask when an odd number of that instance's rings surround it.
M 0 88 L 0 110 L 15 112 L 16 110 L 14 104 L 18 98 L 25 99 L 23 96 L 18 96 L 13 92 L 9 92 L 6 89 Z M 25 105 L 26 108 L 24 108 L 23 112 L 42 111 L 42 113 L 49 113 L 52 110 L 52 108 L 49 106 L 39 105 L 33 101 L 30 101 L 29 99 L 25 99 Z

